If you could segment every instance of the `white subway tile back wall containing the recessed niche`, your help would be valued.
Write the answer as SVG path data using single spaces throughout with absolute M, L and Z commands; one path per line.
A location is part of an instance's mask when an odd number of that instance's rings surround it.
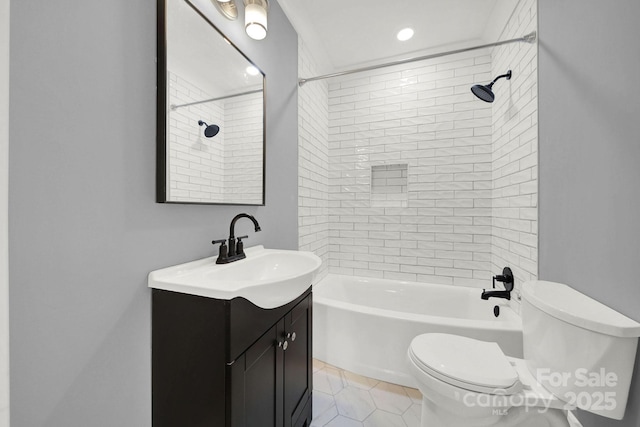
M 331 272 L 486 286 L 491 106 L 470 87 L 490 73 L 485 50 L 329 84 Z M 372 170 L 394 167 L 406 185 L 380 203 Z

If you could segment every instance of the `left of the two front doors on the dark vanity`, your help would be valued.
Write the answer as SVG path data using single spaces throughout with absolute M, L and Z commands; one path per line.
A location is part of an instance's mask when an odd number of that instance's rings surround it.
M 239 356 L 230 371 L 231 427 L 283 425 L 282 365 L 284 320 L 281 320 Z

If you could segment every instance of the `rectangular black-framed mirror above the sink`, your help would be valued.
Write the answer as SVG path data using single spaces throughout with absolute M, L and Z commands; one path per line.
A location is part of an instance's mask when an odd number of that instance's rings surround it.
M 210 0 L 158 2 L 160 203 L 264 205 L 264 73 L 208 18 Z

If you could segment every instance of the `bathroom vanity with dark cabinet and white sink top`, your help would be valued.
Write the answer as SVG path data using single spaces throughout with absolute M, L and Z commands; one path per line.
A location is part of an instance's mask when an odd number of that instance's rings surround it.
M 311 283 L 321 261 L 261 246 L 246 255 L 149 274 L 154 427 L 311 424 Z

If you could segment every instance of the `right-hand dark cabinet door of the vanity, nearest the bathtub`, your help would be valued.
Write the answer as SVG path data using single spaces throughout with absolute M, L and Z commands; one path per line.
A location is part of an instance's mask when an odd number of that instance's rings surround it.
M 295 335 L 294 335 L 295 334 Z M 295 338 L 294 338 L 295 337 Z M 311 420 L 311 296 L 285 316 L 284 338 L 284 425 L 304 425 Z M 306 414 L 306 415 L 305 415 Z

